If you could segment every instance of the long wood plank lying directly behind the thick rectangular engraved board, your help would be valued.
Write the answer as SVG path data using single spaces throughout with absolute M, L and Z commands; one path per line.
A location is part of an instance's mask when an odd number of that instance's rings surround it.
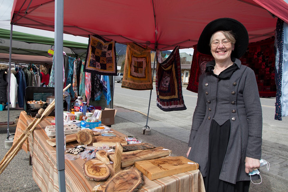
M 122 153 L 121 167 L 134 165 L 135 161 L 143 161 L 164 157 L 170 154 L 171 151 L 163 150 L 163 147 L 155 147 L 153 149 L 141 149 Z M 109 155 L 111 161 L 114 162 L 115 155 Z

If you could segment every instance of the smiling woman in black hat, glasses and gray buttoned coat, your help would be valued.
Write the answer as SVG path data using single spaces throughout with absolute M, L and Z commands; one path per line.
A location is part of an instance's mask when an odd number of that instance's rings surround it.
M 199 163 L 206 192 L 247 192 L 247 173 L 260 167 L 262 110 L 257 82 L 253 70 L 238 59 L 247 46 L 245 27 L 230 18 L 210 22 L 198 41 L 198 51 L 214 60 L 199 77 L 187 157 Z

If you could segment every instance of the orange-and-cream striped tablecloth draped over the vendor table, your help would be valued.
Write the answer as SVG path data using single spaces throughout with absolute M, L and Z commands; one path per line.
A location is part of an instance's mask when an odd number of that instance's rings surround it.
M 33 179 L 38 184 L 42 191 L 58 191 L 58 170 L 56 162 L 56 148 L 50 146 L 46 140 L 48 139 L 45 127 L 50 125 L 54 116 L 48 116 L 44 119 L 38 127 L 30 135 L 29 140 L 26 141 L 22 149 L 26 152 L 30 151 L 33 163 Z M 19 121 L 17 124 L 14 140 L 17 140 L 32 122 L 32 118 L 27 116 L 24 111 L 20 113 Z M 124 134 L 113 130 L 118 136 L 126 137 Z M 73 148 L 78 143 L 67 143 L 67 148 Z M 73 161 L 65 159 L 65 183 L 66 191 L 75 192 L 89 192 L 94 186 L 104 184 L 104 182 L 89 181 L 83 174 L 82 165 L 84 159 L 78 158 Z M 111 176 L 114 175 L 113 165 L 108 165 Z M 129 167 L 128 167 L 129 168 Z M 126 168 L 127 169 L 127 168 Z M 203 178 L 199 170 L 188 171 L 161 179 L 149 180 L 143 176 L 144 184 L 138 190 L 139 192 L 205 192 Z

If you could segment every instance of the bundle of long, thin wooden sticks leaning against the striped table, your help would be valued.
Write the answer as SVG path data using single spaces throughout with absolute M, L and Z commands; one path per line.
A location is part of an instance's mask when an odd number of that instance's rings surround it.
M 71 86 L 71 83 L 63 89 L 63 93 L 70 86 Z M 8 166 L 8 164 L 12 161 L 12 159 L 17 155 L 17 153 L 22 149 L 22 145 L 26 141 L 26 139 L 29 137 L 29 135 L 34 131 L 37 125 L 54 110 L 54 107 L 55 107 L 55 99 L 48 105 L 48 107 L 44 110 L 43 113 L 41 112 L 41 110 L 39 110 L 40 113 L 42 114 L 40 114 L 38 111 L 39 115 L 37 114 L 38 116 L 35 117 L 35 119 L 28 125 L 24 133 L 21 134 L 21 136 L 18 139 L 19 142 L 17 140 L 16 143 L 12 145 L 12 147 L 9 149 L 9 151 L 6 153 L 6 155 L 2 159 L 0 163 L 0 175 L 1 173 L 3 173 L 3 171 Z

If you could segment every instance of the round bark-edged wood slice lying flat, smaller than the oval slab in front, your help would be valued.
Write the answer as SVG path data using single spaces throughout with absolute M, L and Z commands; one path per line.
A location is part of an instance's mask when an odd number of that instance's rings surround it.
M 110 170 L 102 161 L 90 159 L 83 164 L 83 173 L 90 181 L 103 181 L 110 175 Z

